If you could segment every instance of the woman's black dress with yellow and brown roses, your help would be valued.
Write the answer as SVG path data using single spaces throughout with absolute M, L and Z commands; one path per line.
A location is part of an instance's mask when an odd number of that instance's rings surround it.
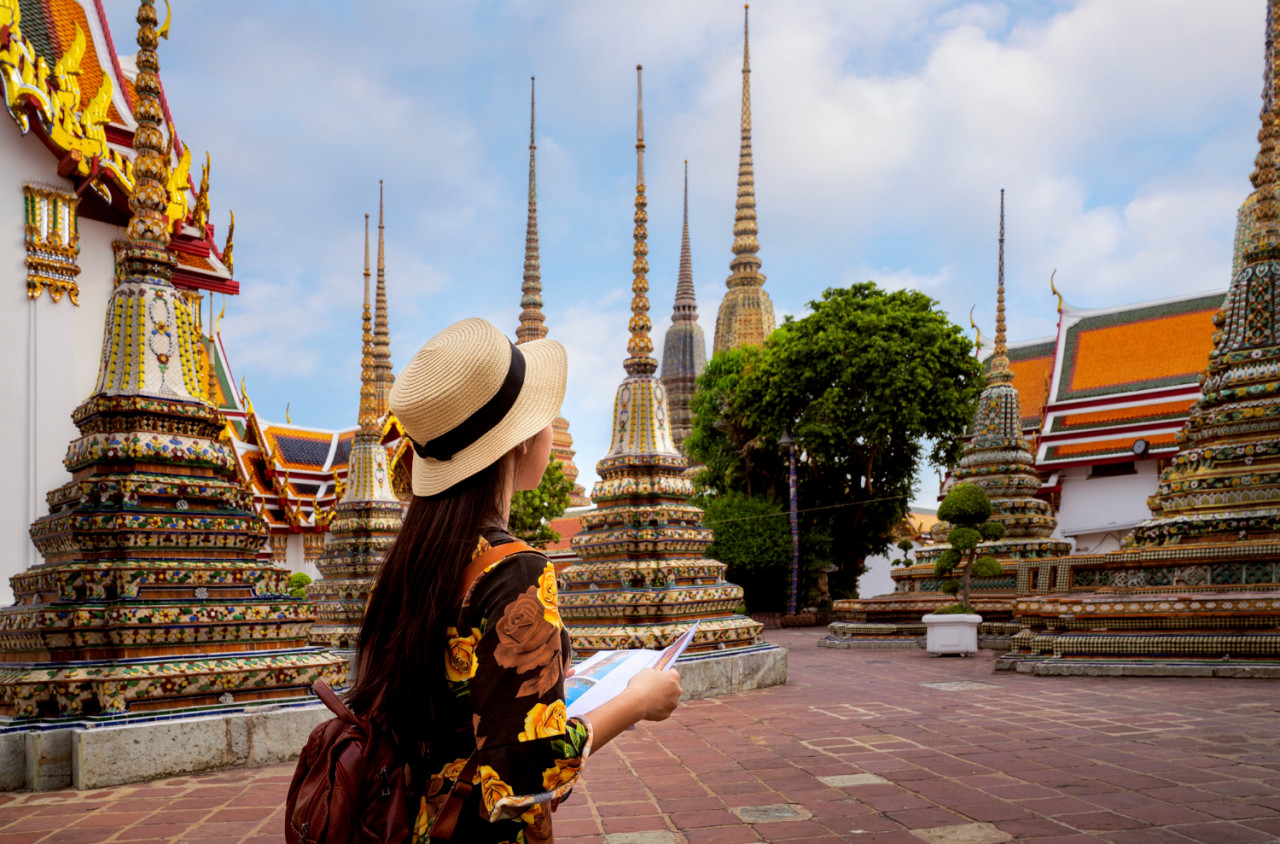
M 503 530 L 480 539 L 512 542 Z M 577 780 L 591 747 L 591 725 L 564 712 L 570 640 L 557 608 L 556 570 L 547 557 L 517 553 L 485 569 L 447 630 L 440 670 L 451 694 L 436 702 L 439 736 L 428 752 L 431 772 L 421 798 L 415 841 L 444 807 L 471 752 L 479 767 L 462 806 L 458 844 L 552 841 L 552 811 Z

